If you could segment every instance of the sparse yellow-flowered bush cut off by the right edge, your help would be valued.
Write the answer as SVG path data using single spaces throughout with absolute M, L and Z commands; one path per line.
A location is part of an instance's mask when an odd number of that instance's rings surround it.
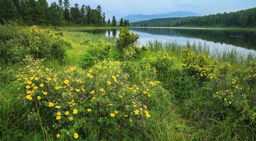
M 245 72 L 237 70 L 232 77 L 229 63 L 222 63 L 215 72 L 209 76 L 213 97 L 220 104 L 219 110 L 227 114 L 239 115 L 241 120 L 255 121 L 255 62 Z

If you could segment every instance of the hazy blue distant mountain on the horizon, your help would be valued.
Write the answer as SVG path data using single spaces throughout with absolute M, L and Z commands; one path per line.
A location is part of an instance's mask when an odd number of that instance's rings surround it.
M 128 15 L 123 17 L 123 19 L 129 19 L 130 22 L 136 22 L 136 21 L 145 21 L 150 19 L 158 19 L 158 18 L 173 18 L 173 17 L 189 17 L 189 16 L 201 16 L 199 14 L 188 12 L 188 11 L 177 11 L 177 12 L 171 12 L 168 14 L 156 14 L 156 15 Z M 118 19 L 117 21 L 120 21 Z

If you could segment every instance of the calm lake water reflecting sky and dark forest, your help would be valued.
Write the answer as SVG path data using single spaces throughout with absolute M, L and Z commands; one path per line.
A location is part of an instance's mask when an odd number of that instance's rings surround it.
M 227 29 L 195 29 L 195 28 L 130 28 L 131 32 L 139 33 L 140 45 L 149 40 L 176 41 L 178 43 L 206 43 L 210 49 L 229 50 L 256 53 L 256 31 Z M 76 30 L 79 32 L 79 30 Z M 119 29 L 80 30 L 94 34 L 103 33 L 106 36 L 118 36 Z

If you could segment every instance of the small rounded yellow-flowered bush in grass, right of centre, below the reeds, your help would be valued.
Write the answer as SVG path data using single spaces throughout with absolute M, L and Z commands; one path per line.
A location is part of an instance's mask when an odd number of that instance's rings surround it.
M 149 63 L 151 64 L 151 66 L 156 68 L 159 73 L 162 74 L 167 72 L 167 70 L 173 68 L 174 61 L 170 56 L 168 56 L 167 53 L 161 51 L 159 51 L 159 53 L 160 54 L 157 55 L 155 58 L 149 58 Z

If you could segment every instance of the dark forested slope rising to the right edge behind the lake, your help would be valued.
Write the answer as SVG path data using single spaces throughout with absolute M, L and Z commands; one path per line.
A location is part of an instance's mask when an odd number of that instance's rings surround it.
M 256 7 L 236 12 L 224 12 L 208 16 L 197 17 L 177 21 L 172 26 L 238 26 L 255 27 L 256 26 Z

